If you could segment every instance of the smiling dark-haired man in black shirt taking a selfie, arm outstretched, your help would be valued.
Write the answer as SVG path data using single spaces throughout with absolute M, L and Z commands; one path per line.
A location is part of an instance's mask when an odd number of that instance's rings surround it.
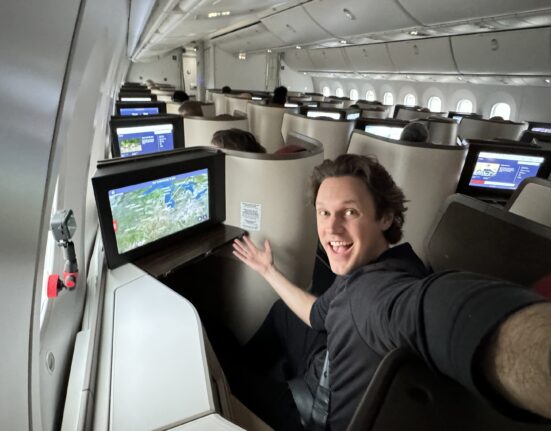
M 323 295 L 289 282 L 268 241 L 264 250 L 247 237 L 234 243 L 235 256 L 283 300 L 246 351 L 252 364 L 281 357 L 285 371 L 268 371 L 259 390 L 249 384 L 258 381 L 245 375 L 250 370 L 229 372 L 232 391 L 246 405 L 275 429 L 320 429 L 312 403 L 328 365 L 327 429 L 345 430 L 381 359 L 406 347 L 474 392 L 491 387 L 500 400 L 551 417 L 549 302 L 479 274 L 431 273 L 409 244 L 391 247 L 402 237 L 405 198 L 374 158 L 325 160 L 311 182 L 319 239 L 337 275 Z M 511 343 L 518 352 L 537 351 L 530 364 L 512 360 Z M 270 391 L 277 397 L 261 396 Z

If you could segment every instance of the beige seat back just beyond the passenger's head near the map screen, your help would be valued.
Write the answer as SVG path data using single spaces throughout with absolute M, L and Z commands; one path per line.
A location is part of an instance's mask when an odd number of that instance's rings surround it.
M 184 136 L 186 148 L 210 146 L 214 132 L 225 129 L 248 130 L 247 119 L 217 119 L 214 117 L 184 117 Z

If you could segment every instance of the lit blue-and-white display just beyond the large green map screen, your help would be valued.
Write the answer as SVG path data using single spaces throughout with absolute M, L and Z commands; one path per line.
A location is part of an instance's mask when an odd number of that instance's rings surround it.
M 119 127 L 117 137 L 121 157 L 174 149 L 172 124 Z

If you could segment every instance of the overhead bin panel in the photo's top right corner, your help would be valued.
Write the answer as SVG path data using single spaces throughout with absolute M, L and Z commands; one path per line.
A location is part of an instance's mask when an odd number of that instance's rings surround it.
M 427 25 L 550 8 L 548 0 L 439 0 L 437 4 L 426 0 L 400 0 L 400 3 Z

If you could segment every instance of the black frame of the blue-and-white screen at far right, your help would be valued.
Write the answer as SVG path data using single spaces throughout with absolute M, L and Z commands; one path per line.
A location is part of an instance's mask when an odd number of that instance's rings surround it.
M 551 173 L 551 150 L 542 147 L 531 147 L 520 144 L 518 147 L 497 143 L 495 141 L 467 140 L 469 152 L 465 159 L 465 165 L 461 171 L 461 176 L 457 184 L 457 193 L 465 194 L 475 198 L 484 199 L 508 199 L 514 192 L 514 189 L 498 189 L 491 187 L 477 187 L 469 185 L 473 172 L 481 152 L 515 154 L 526 156 L 543 157 L 544 161 L 540 165 L 535 178 L 547 178 Z M 534 177 L 528 177 L 534 178 Z

